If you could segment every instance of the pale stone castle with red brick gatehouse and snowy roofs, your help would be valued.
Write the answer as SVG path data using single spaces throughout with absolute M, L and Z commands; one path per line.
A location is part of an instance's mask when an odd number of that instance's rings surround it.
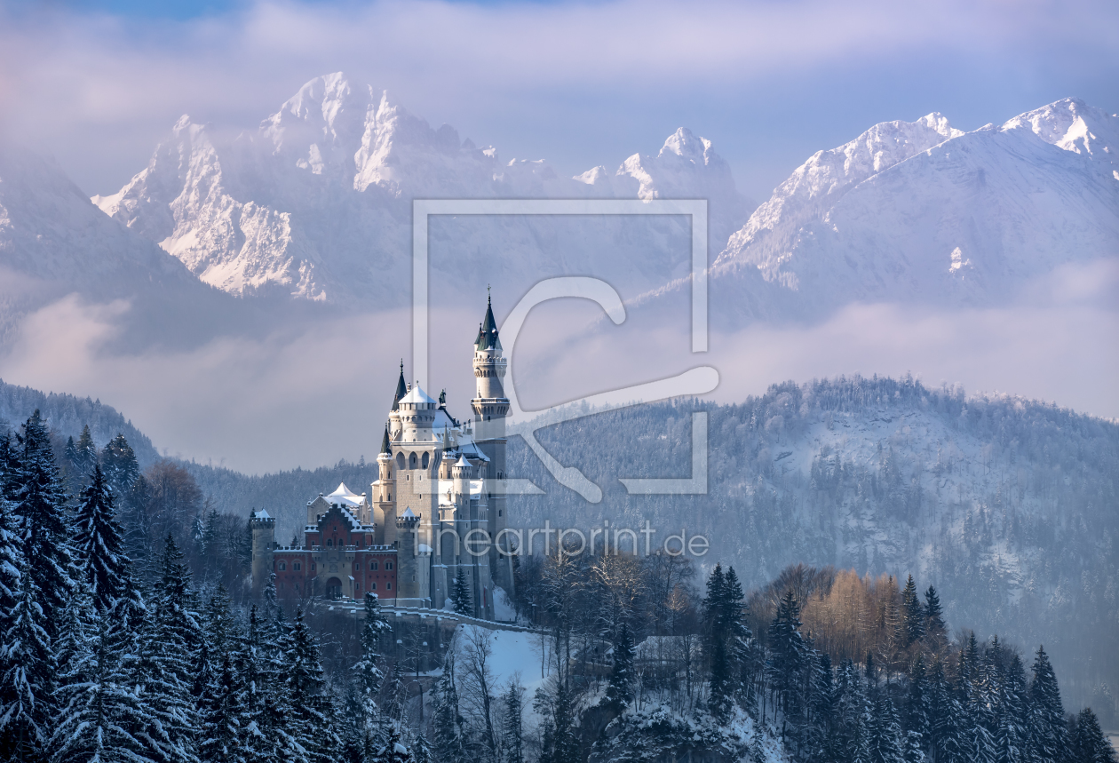
M 442 609 L 461 572 L 469 614 L 495 619 L 495 595 L 513 594 L 513 557 L 505 544 L 505 420 L 509 401 L 493 309 L 473 347 L 472 421 L 406 384 L 404 364 L 368 493 L 345 483 L 307 505 L 302 545 L 275 541 L 275 519 L 254 511 L 253 587 L 270 573 L 283 597 L 360 600 L 373 592 L 385 604 Z M 502 553 L 506 552 L 506 553 Z

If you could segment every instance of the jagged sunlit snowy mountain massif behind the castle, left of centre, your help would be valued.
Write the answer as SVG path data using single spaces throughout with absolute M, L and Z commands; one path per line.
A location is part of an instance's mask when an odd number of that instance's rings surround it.
M 93 200 L 227 292 L 280 289 L 385 305 L 408 293 L 413 199 L 499 197 L 708 198 L 714 242 L 749 211 L 726 162 L 685 129 L 657 156 L 633 154 L 613 173 L 596 167 L 563 178 L 543 160 L 504 161 L 450 125 L 433 129 L 340 73 L 307 83 L 227 144 L 184 116 L 147 168 Z M 519 285 L 543 261 L 562 257 L 568 272 L 653 288 L 681 260 L 665 252 L 665 237 L 687 241 L 679 220 L 598 220 L 583 230 L 551 218 L 468 220 L 445 234 L 435 227 L 434 266 L 442 244 L 452 263 L 443 267 L 473 286 Z

